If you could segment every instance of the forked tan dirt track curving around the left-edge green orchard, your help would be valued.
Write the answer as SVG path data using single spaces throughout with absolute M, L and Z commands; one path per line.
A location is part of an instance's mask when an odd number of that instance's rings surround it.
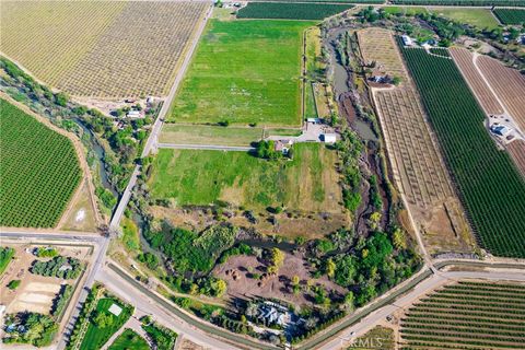
M 67 137 L 71 141 L 71 143 L 73 144 L 73 148 L 74 148 L 74 151 L 77 153 L 77 158 L 78 158 L 80 167 L 81 167 L 82 173 L 83 173 L 83 179 L 79 183 L 75 191 L 73 192 L 73 195 L 71 196 L 71 199 L 69 200 L 68 206 L 65 208 L 65 210 L 62 212 L 62 215 L 60 217 L 60 220 L 58 221 L 57 225 L 55 225 L 54 229 L 60 228 L 62 225 L 63 221 L 70 214 L 70 212 L 71 212 L 71 210 L 74 206 L 74 202 L 77 201 L 78 197 L 82 192 L 84 182 L 88 183 L 89 192 L 90 192 L 89 194 L 90 203 L 92 206 L 93 212 L 95 213 L 95 221 L 96 221 L 96 223 L 102 222 L 102 218 L 101 218 L 98 207 L 96 205 L 96 200 L 95 200 L 95 196 L 94 196 L 95 189 L 94 189 L 94 185 L 93 185 L 93 177 L 91 175 L 91 171 L 89 168 L 88 161 L 85 159 L 85 153 L 84 153 L 83 145 L 82 145 L 81 141 L 77 138 L 77 136 L 57 127 L 57 126 L 55 126 L 48 119 L 46 119 L 46 118 L 39 116 L 38 114 L 34 113 L 26 105 L 24 105 L 24 104 L 22 104 L 18 101 L 14 101 L 11 96 L 9 96 L 8 94 L 5 94 L 2 91 L 0 91 L 0 98 L 3 98 L 5 101 L 8 101 L 12 105 L 16 106 L 16 108 L 19 108 L 19 109 L 23 110 L 24 113 L 33 116 L 36 120 L 38 120 L 39 122 L 45 125 L 47 128 L 51 129 L 52 131 Z M 9 230 L 9 228 L 7 228 L 7 229 Z

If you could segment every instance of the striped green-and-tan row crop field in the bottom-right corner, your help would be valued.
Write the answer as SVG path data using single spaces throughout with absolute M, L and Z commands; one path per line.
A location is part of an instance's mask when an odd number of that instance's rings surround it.
M 525 285 L 459 281 L 401 317 L 400 349 L 523 349 Z

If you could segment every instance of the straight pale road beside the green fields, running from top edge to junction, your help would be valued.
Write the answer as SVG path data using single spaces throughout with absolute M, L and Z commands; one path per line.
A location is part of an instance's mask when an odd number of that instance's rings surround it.
M 170 112 L 170 106 L 172 105 L 172 101 L 175 97 L 177 89 L 180 85 L 180 82 L 183 81 L 183 78 L 186 73 L 186 70 L 189 67 L 189 63 L 191 62 L 191 57 L 194 56 L 194 51 L 197 48 L 199 38 L 202 35 L 202 32 L 205 31 L 206 24 L 208 23 L 208 20 L 211 16 L 212 10 L 213 10 L 213 4 L 212 2 L 210 2 L 210 8 L 208 9 L 208 12 L 205 14 L 203 19 L 198 24 L 197 31 L 191 40 L 191 45 L 188 51 L 186 52 L 186 56 L 184 57 L 184 61 L 180 65 L 180 68 L 177 71 L 175 81 L 173 82 L 172 89 L 170 90 L 170 94 L 164 101 L 161 112 L 159 113 L 159 116 L 156 117 L 156 120 L 153 124 L 153 128 L 151 129 L 150 136 L 145 141 L 144 149 L 142 150 L 141 158 L 148 156 L 156 145 L 156 140 L 159 139 L 159 133 L 161 132 L 162 125 L 164 124 L 164 118 L 166 114 Z M 133 170 L 133 173 L 131 174 L 128 186 L 126 187 L 122 196 L 120 197 L 120 200 L 118 201 L 117 209 L 113 213 L 109 228 L 114 231 L 118 230 L 120 225 L 120 220 L 122 218 L 124 211 L 126 210 L 126 207 L 128 207 L 129 199 L 131 198 L 131 191 L 133 190 L 133 187 L 137 184 L 137 178 L 139 174 L 140 174 L 140 165 L 137 165 Z

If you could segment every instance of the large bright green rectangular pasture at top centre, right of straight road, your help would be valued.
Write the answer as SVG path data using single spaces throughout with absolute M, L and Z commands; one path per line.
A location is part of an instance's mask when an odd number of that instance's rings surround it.
M 298 126 L 302 37 L 313 24 L 211 20 L 167 120 Z

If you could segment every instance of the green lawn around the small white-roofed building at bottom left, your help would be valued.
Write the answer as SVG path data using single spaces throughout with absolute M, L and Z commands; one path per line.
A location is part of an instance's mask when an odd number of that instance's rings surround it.
M 117 304 L 122 308 L 120 315 L 114 316 L 109 313 L 109 307 L 113 304 Z M 93 322 L 90 322 L 88 330 L 85 332 L 84 339 L 80 346 L 81 350 L 96 350 L 104 346 L 104 343 L 109 340 L 109 338 L 118 330 L 120 327 L 128 320 L 132 314 L 131 307 L 124 307 L 116 299 L 104 298 L 98 301 L 96 305 L 96 312 L 105 313 L 106 315 L 113 316 L 113 324 L 104 328 L 96 327 Z

